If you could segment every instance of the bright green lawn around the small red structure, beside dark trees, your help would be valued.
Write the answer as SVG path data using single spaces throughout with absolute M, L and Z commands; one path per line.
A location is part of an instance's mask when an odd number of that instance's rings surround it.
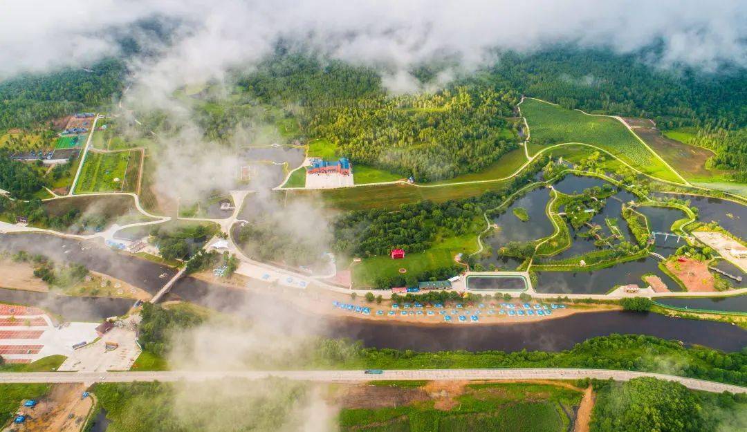
M 353 270 L 353 288 L 372 287 L 376 278 L 418 275 L 430 270 L 443 269 L 454 265 L 454 255 L 459 252 L 473 252 L 477 245 L 477 234 L 461 237 L 436 239 L 433 248 L 417 254 L 406 254 L 401 260 L 379 256 L 365 258 L 350 267 Z M 406 273 L 400 273 L 406 269 Z

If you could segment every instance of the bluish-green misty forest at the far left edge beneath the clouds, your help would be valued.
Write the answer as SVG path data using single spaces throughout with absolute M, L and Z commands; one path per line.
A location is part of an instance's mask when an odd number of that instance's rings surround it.
M 87 70 L 63 69 L 0 81 L 0 131 L 31 128 L 55 117 L 111 103 L 111 96 L 123 83 L 123 61 L 109 58 Z

